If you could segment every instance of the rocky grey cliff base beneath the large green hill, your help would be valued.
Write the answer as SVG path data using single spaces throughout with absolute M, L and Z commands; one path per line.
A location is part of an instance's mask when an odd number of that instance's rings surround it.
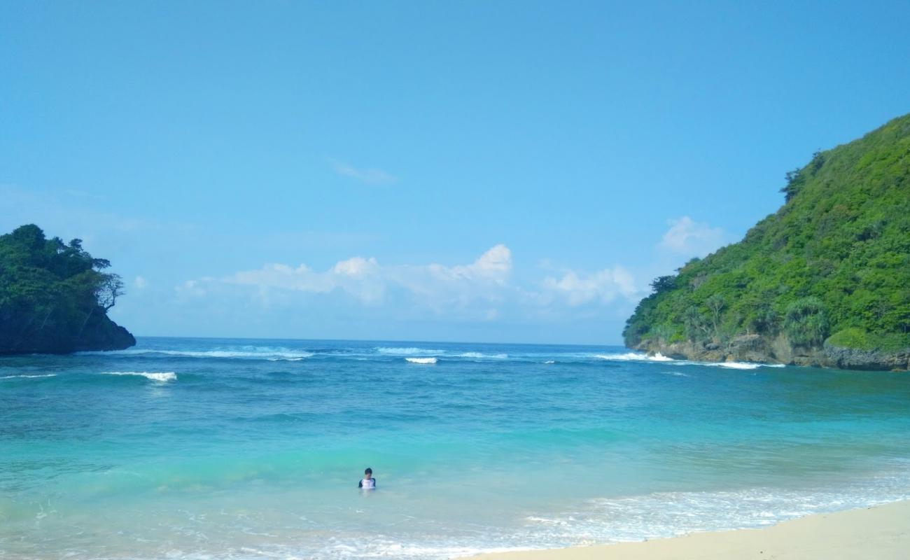
M 828 342 L 822 348 L 803 348 L 790 344 L 783 335 L 768 339 L 758 334 L 743 334 L 723 345 L 692 341 L 666 343 L 652 339 L 640 342 L 633 350 L 660 352 L 676 360 L 755 361 L 844 370 L 910 370 L 910 350 L 858 350 Z

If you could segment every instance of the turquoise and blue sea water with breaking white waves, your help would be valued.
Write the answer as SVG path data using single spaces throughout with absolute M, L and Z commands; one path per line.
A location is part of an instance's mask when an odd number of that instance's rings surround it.
M 0 557 L 446 558 L 761 526 L 910 496 L 908 412 L 906 374 L 616 347 L 6 357 Z

